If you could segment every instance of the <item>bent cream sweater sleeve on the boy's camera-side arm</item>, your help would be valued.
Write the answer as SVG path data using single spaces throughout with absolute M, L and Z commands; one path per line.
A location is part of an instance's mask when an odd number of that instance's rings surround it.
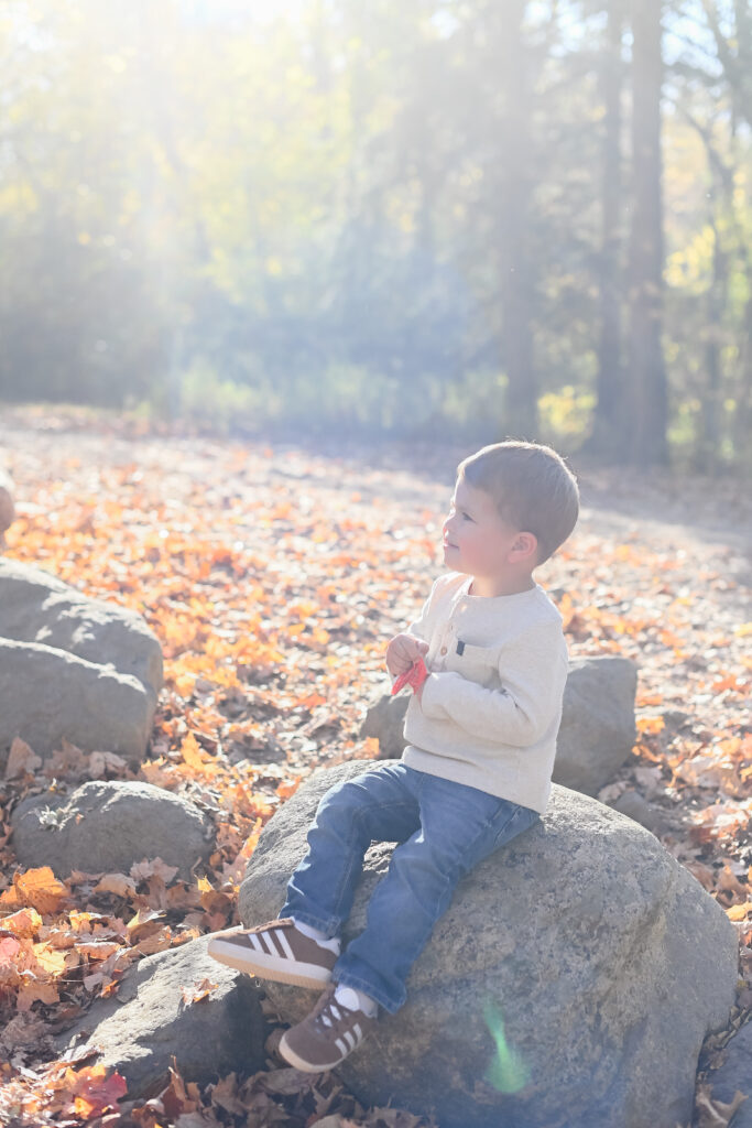
M 534 744 L 561 704 L 568 672 L 561 637 L 558 626 L 541 625 L 505 647 L 498 663 L 501 689 L 487 689 L 454 670 L 430 673 L 421 695 L 424 714 L 450 719 L 492 743 Z

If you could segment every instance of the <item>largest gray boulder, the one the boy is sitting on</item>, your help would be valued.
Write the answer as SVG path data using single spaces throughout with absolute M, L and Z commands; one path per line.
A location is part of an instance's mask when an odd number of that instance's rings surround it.
M 326 788 L 368 767 L 316 773 L 269 820 L 240 889 L 246 924 L 278 913 Z M 345 942 L 390 853 L 369 851 Z M 542 821 L 460 882 L 407 1004 L 337 1072 L 365 1104 L 434 1110 L 441 1128 L 676 1128 L 737 954 L 720 907 L 653 835 L 554 785 Z M 264 986 L 289 1022 L 316 998 Z

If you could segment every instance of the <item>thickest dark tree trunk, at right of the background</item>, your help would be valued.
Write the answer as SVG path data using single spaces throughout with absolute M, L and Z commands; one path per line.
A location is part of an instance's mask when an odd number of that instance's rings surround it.
M 661 160 L 662 0 L 631 0 L 634 202 L 629 255 L 629 460 L 665 465 L 667 389 L 663 321 Z

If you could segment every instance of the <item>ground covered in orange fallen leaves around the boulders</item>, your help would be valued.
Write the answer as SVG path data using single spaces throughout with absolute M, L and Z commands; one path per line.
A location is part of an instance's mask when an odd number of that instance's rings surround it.
M 235 923 L 246 862 L 278 804 L 313 767 L 377 755 L 360 726 L 389 688 L 389 638 L 444 570 L 441 522 L 469 452 L 241 444 L 88 412 L 3 412 L 0 457 L 18 509 L 8 555 L 144 616 L 163 646 L 166 688 L 135 778 L 188 795 L 218 835 L 193 882 L 160 862 L 64 882 L 24 872 L 8 828 L 20 797 L 53 781 L 134 776 L 107 749 L 72 746 L 42 765 L 17 742 L 0 764 L 0 1121 L 427 1123 L 360 1108 L 331 1075 L 286 1069 L 274 1034 L 267 1070 L 203 1092 L 176 1072 L 145 1104 L 91 1060 L 56 1060 L 50 1034 L 117 992 L 142 954 Z M 572 465 L 581 519 L 536 578 L 564 615 L 572 658 L 621 654 L 639 667 L 638 740 L 600 797 L 635 790 L 658 808 L 671 828 L 663 845 L 740 932 L 737 1005 L 706 1042 L 695 1116 L 724 1125 L 732 1113 L 704 1070 L 752 1015 L 752 503 L 729 478 Z

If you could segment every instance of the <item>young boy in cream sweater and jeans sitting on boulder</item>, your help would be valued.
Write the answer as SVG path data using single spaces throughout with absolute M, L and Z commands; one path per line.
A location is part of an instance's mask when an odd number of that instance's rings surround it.
M 298 1069 L 338 1065 L 405 980 L 463 874 L 540 820 L 551 790 L 567 678 L 561 616 L 532 572 L 577 521 L 576 479 L 550 447 L 507 440 L 458 466 L 443 525 L 449 573 L 387 647 L 392 678 L 423 658 L 397 764 L 331 787 L 280 918 L 218 933 L 209 952 L 250 975 L 326 987 L 287 1030 Z M 396 841 L 363 932 L 340 952 L 372 840 Z

